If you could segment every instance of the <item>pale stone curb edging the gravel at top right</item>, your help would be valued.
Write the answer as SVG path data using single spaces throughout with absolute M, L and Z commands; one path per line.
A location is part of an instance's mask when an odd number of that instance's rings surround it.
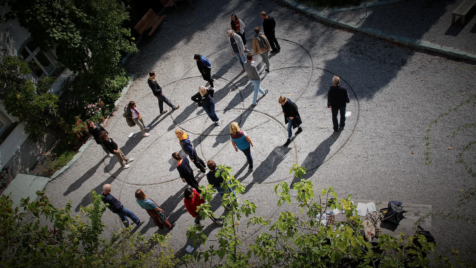
M 298 4 L 294 0 L 279 0 L 279 1 L 292 7 L 293 9 L 299 10 L 309 16 L 312 16 L 316 18 L 317 20 L 322 20 L 324 22 L 327 22 L 333 25 L 363 32 L 368 35 L 372 35 L 381 39 L 396 42 L 405 46 L 414 47 L 414 48 L 423 49 L 423 50 L 429 50 L 432 52 L 438 52 L 438 53 L 445 54 L 445 55 L 452 56 L 459 59 L 476 61 L 476 54 L 468 53 L 461 49 L 446 47 L 446 46 L 438 45 L 436 43 L 428 42 L 425 40 L 419 40 L 419 39 L 413 39 L 413 38 L 407 38 L 407 37 L 395 36 L 395 35 L 387 35 L 385 33 L 382 33 L 381 30 L 357 26 L 357 24 L 354 22 L 345 23 L 345 22 L 331 19 L 328 17 L 330 13 L 319 12 L 317 10 Z

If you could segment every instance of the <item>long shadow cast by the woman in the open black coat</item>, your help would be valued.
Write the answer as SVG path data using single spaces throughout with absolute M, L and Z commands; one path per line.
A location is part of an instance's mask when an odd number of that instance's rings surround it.
M 245 193 L 253 187 L 255 183 L 261 184 L 278 169 L 279 164 L 286 158 L 286 155 L 291 150 L 291 147 L 277 146 L 268 157 L 261 162 L 258 168 L 253 172 L 253 181 L 245 188 Z

